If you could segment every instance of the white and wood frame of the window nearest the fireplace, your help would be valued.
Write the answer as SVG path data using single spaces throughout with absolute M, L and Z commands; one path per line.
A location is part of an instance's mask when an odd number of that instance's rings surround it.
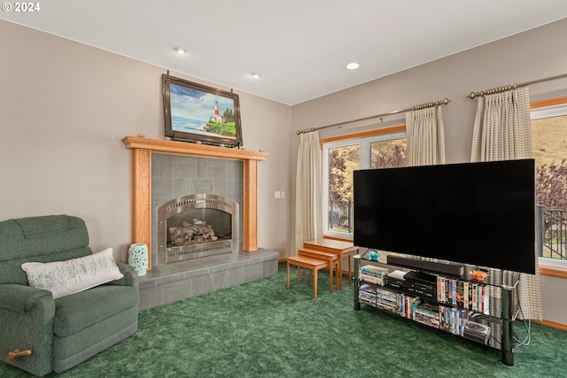
M 338 137 L 321 139 L 321 165 L 322 165 L 322 233 L 324 237 L 345 239 L 352 241 L 353 233 L 337 232 L 329 229 L 329 150 L 353 144 L 359 145 L 359 169 L 370 169 L 371 143 L 384 142 L 396 139 L 406 139 L 406 125 L 384 127 L 367 132 L 341 135 Z

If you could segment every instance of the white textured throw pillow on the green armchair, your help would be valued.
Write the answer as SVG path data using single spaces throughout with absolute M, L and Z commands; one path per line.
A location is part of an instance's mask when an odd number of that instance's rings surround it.
M 50 290 L 53 298 L 78 293 L 124 276 L 114 262 L 112 248 L 66 261 L 24 263 L 21 268 L 27 274 L 29 286 Z

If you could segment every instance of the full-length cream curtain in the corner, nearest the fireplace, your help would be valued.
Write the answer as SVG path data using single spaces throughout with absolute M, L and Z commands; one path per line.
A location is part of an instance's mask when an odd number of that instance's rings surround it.
M 322 238 L 322 176 L 319 133 L 299 135 L 295 183 L 295 250 Z

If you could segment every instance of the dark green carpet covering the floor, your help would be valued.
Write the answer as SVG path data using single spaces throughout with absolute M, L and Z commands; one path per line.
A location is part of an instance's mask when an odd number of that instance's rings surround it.
M 292 277 L 295 269 L 292 269 Z M 353 286 L 319 297 L 279 273 L 140 312 L 136 335 L 60 377 L 567 377 L 567 332 L 532 325 L 514 366 L 478 343 L 353 310 Z M 519 338 L 524 323 L 515 324 Z M 0 363 L 0 377 L 28 374 Z

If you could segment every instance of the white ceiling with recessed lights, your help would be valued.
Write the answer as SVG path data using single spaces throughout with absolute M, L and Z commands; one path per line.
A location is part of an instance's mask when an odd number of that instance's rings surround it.
M 0 18 L 290 105 L 567 17 L 565 0 L 38 3 Z

